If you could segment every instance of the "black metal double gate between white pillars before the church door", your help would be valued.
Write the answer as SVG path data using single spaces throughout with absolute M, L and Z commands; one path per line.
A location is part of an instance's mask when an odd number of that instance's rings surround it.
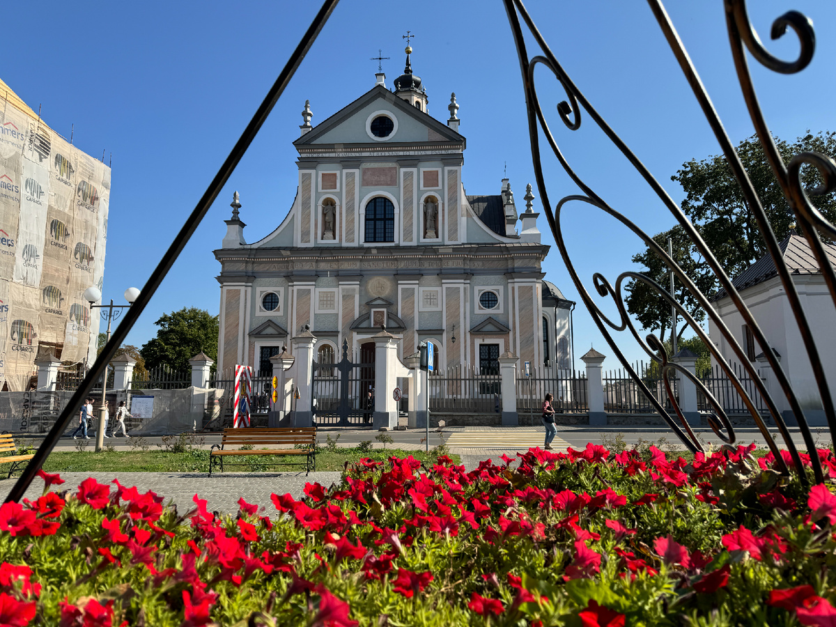
M 363 363 L 349 359 L 349 343 L 343 342 L 343 358 L 336 364 L 314 361 L 314 414 L 317 426 L 371 425 L 375 410 L 374 353 L 362 351 Z M 358 355 L 354 355 L 355 359 Z M 371 393 L 371 396 L 370 396 Z

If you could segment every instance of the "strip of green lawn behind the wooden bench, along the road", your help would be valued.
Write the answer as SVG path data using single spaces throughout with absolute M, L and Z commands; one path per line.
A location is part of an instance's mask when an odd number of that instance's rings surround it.
M 319 449 L 316 456 L 318 471 L 341 471 L 345 462 L 359 461 L 370 457 L 376 461 L 385 461 L 391 456 L 413 456 L 420 461 L 435 461 L 432 452 L 401 451 L 400 449 L 374 449 L 361 451 L 357 448 Z M 298 472 L 304 470 L 304 456 L 299 456 L 299 463 L 292 466 L 268 466 L 268 463 L 288 463 L 294 461 L 291 456 L 232 456 L 224 463 L 243 464 L 225 466 L 224 472 Z M 461 463 L 457 455 L 450 455 L 456 464 Z M 48 456 L 43 465 L 46 472 L 208 472 L 209 451 L 186 449 L 181 452 L 171 451 L 103 451 L 94 453 L 56 452 Z M 219 472 L 213 471 L 213 472 Z

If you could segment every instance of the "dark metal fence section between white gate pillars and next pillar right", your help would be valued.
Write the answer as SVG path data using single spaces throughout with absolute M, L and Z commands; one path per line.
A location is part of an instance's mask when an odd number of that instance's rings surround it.
M 502 410 L 499 369 L 482 374 L 470 364 L 438 370 L 427 377 L 430 411 L 439 414 L 487 413 Z

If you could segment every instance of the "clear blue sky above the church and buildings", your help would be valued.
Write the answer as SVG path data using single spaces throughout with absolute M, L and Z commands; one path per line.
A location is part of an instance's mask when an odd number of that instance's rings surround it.
M 772 54 L 794 59 L 798 42 L 788 33 L 769 40 L 774 18 L 793 8 L 813 19 L 817 50 L 801 74 L 773 74 L 752 62 L 758 94 L 772 131 L 794 139 L 807 129 L 833 130 L 836 80 L 836 5 L 798 0 L 750 3 L 752 22 Z M 430 114 L 446 120 L 451 92 L 461 106 L 467 138 L 462 179 L 468 194 L 498 193 L 503 166 L 517 198 L 534 183 L 522 81 L 502 3 L 414 3 L 343 0 L 304 59 L 273 114 L 215 206 L 197 230 L 128 343 L 155 335 L 163 313 L 184 306 L 217 314 L 220 247 L 232 191 L 241 194 L 247 242 L 283 219 L 297 184 L 299 113 L 306 99 L 313 124 L 371 89 L 382 48 L 387 85 L 403 70 L 401 35 L 415 33 L 415 74 L 429 95 Z M 141 288 L 172 237 L 242 132 L 263 95 L 298 43 L 319 4 L 296 2 L 29 3 L 4 8 L 7 27 L 0 76 L 43 120 L 74 144 L 105 161 L 113 155 L 110 229 L 104 298 L 122 300 Z M 579 88 L 630 145 L 675 200 L 670 175 L 691 158 L 719 152 L 686 80 L 643 3 L 531 3 L 538 27 Z M 753 133 L 726 36 L 722 3 L 670 3 L 668 10 L 706 84 L 732 140 Z M 37 29 L 23 28 L 37 23 Z M 13 45 L 13 48 L 9 46 Z M 537 54 L 529 41 L 529 54 Z M 572 132 L 554 106 L 562 89 L 538 71 L 540 101 L 558 144 L 584 181 L 647 232 L 669 228 L 673 218 L 624 158 L 584 116 Z M 549 197 L 577 193 L 553 156 L 544 156 Z M 534 193 L 539 196 L 535 187 Z M 538 201 L 535 208 L 539 209 Z M 522 203 L 521 203 L 522 205 Z M 543 241 L 553 243 L 545 216 Z M 592 289 L 592 273 L 614 282 L 630 269 L 639 240 L 617 223 L 578 206 L 565 222 L 575 267 Z M 553 247 L 547 278 L 579 300 Z M 605 311 L 614 308 L 604 305 Z M 574 316 L 577 355 L 590 345 L 611 355 L 579 303 Z M 644 355 L 628 334 L 620 345 L 630 359 Z M 646 358 L 645 358 L 646 359 Z M 582 364 L 578 361 L 578 365 Z M 614 357 L 604 366 L 615 367 Z

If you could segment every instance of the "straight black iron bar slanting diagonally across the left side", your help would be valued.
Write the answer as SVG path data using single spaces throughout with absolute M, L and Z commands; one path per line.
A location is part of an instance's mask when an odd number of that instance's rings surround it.
M 157 264 L 156 268 L 154 268 L 154 272 L 151 273 L 148 281 L 145 282 L 145 285 L 140 292 L 140 297 L 137 298 L 133 306 L 128 309 L 128 313 L 125 314 L 125 318 L 122 320 L 121 324 L 116 327 L 115 331 L 111 335 L 110 341 L 108 341 L 107 344 L 104 344 L 101 353 L 99 353 L 99 356 L 90 367 L 90 370 L 84 377 L 84 380 L 79 385 L 78 390 L 75 390 L 75 394 L 64 407 L 64 410 L 61 412 L 61 415 L 59 415 L 58 420 L 55 421 L 52 429 L 49 430 L 49 433 L 43 439 L 41 446 L 38 447 L 38 451 L 35 452 L 35 456 L 31 461 L 29 461 L 28 466 L 26 466 L 23 470 L 23 474 L 18 478 L 18 481 L 9 491 L 8 496 L 6 497 L 6 502 L 20 501 L 23 497 L 23 493 L 26 492 L 26 489 L 29 487 L 29 484 L 31 484 L 33 479 L 37 476 L 38 471 L 43 466 L 43 462 L 46 461 L 49 453 L 52 452 L 55 444 L 59 441 L 60 436 L 66 430 L 69 425 L 69 421 L 73 419 L 76 408 L 81 405 L 81 401 L 84 398 L 87 398 L 89 391 L 93 388 L 94 382 L 99 380 L 99 377 L 102 376 L 102 373 L 107 368 L 107 365 L 110 364 L 110 359 L 113 359 L 116 350 L 119 349 L 122 342 L 125 341 L 130 329 L 133 328 L 136 320 L 139 319 L 140 314 L 142 314 L 145 310 L 145 306 L 149 303 L 157 288 L 160 287 L 162 280 L 166 278 L 166 274 L 169 270 L 171 270 L 171 267 L 176 262 L 177 257 L 180 256 L 183 248 L 186 247 L 186 243 L 188 243 L 192 234 L 196 231 L 203 217 L 206 216 L 206 212 L 209 211 L 209 207 L 212 206 L 212 202 L 215 201 L 217 195 L 222 190 L 222 187 L 226 185 L 229 177 L 232 176 L 232 171 L 235 170 L 244 153 L 247 151 L 247 148 L 252 143 L 252 140 L 255 139 L 258 130 L 261 129 L 262 125 L 267 120 L 268 115 L 270 115 L 270 111 L 273 110 L 273 107 L 278 102 L 279 96 L 284 91 L 284 88 L 288 86 L 290 79 L 293 78 L 293 74 L 296 73 L 296 69 L 298 69 L 299 64 L 302 63 L 302 59 L 304 59 L 305 54 L 308 54 L 308 49 L 310 49 L 311 45 L 313 45 L 314 40 L 317 38 L 317 35 L 319 35 L 319 32 L 328 21 L 329 16 L 334 11 L 338 2 L 339 0 L 324 0 L 322 7 L 319 8 L 319 12 L 317 12 L 314 17 L 314 21 L 303 34 L 297 47 L 293 49 L 293 54 L 290 55 L 288 63 L 285 64 L 282 71 L 278 74 L 276 82 L 270 87 L 262 103 L 258 105 L 258 109 L 255 114 L 252 115 L 252 120 L 249 121 L 236 144 L 232 146 L 232 150 L 227 156 L 227 159 L 217 171 L 217 174 L 206 188 L 206 191 L 203 193 L 203 196 L 201 196 L 201 199 L 197 201 L 197 205 L 191 211 L 189 217 L 186 218 L 186 222 L 181 227 L 180 232 L 177 233 L 174 241 L 171 242 L 171 246 L 169 246 L 168 250 L 166 250 L 166 253 L 161 258 L 160 263 Z

